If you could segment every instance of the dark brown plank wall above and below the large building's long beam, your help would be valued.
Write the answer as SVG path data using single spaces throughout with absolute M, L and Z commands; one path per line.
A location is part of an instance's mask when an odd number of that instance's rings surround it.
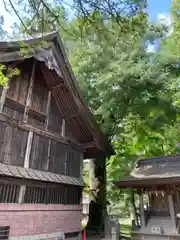
M 18 66 L 20 75 L 10 82 L 3 112 L 10 118 L 60 135 L 63 116 L 39 67 L 36 67 L 32 76 L 34 63 L 34 59 L 29 59 Z M 65 123 L 66 136 L 76 139 L 69 128 L 69 124 Z M 28 131 L 0 123 L 0 162 L 24 166 L 28 134 Z M 82 150 L 78 148 L 34 132 L 26 165 L 37 170 L 80 177 L 81 155 Z

